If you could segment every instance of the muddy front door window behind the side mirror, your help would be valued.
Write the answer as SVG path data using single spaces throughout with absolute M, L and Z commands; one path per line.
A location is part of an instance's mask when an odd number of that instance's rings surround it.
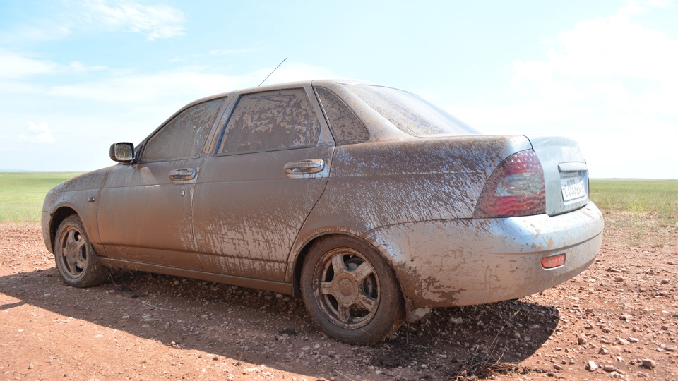
M 198 157 L 225 99 L 196 104 L 174 116 L 148 140 L 143 150 L 143 161 Z

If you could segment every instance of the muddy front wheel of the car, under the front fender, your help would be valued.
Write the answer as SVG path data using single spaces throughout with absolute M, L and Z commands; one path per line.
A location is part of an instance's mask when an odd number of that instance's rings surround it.
M 54 237 L 54 259 L 61 279 L 69 286 L 96 286 L 108 277 L 108 271 L 100 265 L 85 226 L 76 214 L 59 224 Z

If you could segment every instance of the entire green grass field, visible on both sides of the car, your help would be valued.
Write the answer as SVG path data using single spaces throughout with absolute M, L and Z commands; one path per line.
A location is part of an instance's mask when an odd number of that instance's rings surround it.
M 38 222 L 50 188 L 73 172 L 0 173 L 0 222 Z M 678 180 L 592 179 L 590 197 L 605 214 L 654 219 L 660 226 L 678 221 Z

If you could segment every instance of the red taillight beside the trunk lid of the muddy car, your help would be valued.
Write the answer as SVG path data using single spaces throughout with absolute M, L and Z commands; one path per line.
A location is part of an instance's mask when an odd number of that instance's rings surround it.
M 533 150 L 504 159 L 489 176 L 474 217 L 514 217 L 546 212 L 544 170 Z

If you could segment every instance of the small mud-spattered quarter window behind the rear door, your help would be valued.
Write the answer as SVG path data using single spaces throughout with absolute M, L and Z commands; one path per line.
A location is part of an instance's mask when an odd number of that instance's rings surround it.
M 339 97 L 323 87 L 317 87 L 316 92 L 337 145 L 359 143 L 369 139 L 365 125 Z

